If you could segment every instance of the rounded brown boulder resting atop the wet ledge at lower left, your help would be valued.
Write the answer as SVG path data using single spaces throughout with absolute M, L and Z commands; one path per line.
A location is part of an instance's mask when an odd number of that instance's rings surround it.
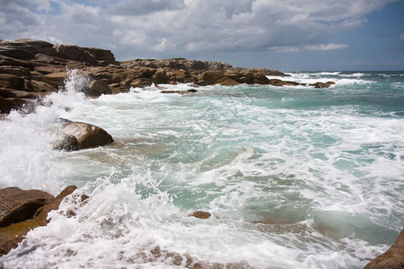
M 0 227 L 31 219 L 52 195 L 40 190 L 24 191 L 19 187 L 0 189 Z

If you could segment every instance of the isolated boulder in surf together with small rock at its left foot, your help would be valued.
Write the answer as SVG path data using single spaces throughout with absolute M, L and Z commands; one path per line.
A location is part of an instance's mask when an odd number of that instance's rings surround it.
M 114 142 L 112 136 L 101 127 L 83 122 L 69 122 L 63 125 L 58 132 L 64 138 L 54 145 L 54 149 L 57 150 L 89 149 Z

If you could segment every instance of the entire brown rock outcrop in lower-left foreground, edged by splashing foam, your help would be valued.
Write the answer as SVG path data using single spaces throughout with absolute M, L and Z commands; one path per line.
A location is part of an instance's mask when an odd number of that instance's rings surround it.
M 62 200 L 75 189 L 75 186 L 66 187 L 56 197 L 40 190 L 24 191 L 17 187 L 0 189 L 0 214 L 3 219 L 9 220 L 0 227 L 0 256 L 17 247 L 30 230 L 47 225 L 48 213 L 57 210 Z M 17 215 L 18 218 L 10 217 Z

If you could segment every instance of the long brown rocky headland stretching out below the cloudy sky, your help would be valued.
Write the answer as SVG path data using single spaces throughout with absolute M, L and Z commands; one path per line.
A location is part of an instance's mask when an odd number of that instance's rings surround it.
M 110 50 L 54 45 L 48 41 L 17 39 L 0 41 L 0 113 L 30 105 L 63 87 L 67 71 L 80 69 L 91 78 L 90 96 L 127 92 L 131 87 L 154 84 L 198 85 L 270 84 L 299 85 L 267 75 L 287 74 L 266 68 L 233 67 L 224 62 L 173 59 L 136 59 L 119 62 Z M 328 88 L 333 82 L 311 84 Z M 171 93 L 171 91 L 163 92 Z

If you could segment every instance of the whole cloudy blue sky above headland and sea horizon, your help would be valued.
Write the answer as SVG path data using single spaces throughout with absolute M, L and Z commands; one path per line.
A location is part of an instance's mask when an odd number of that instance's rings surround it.
M 282 71 L 404 70 L 403 0 L 0 0 L 0 39 Z

